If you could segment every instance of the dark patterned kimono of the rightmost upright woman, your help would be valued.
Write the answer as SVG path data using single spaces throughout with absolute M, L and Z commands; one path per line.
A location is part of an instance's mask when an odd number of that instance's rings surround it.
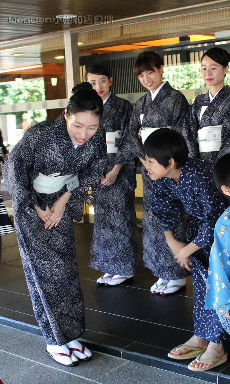
M 202 106 L 208 106 L 200 119 Z M 183 135 L 189 147 L 189 156 L 212 163 L 230 152 L 230 87 L 225 85 L 210 102 L 209 93 L 199 95 L 187 113 L 183 123 Z M 198 130 L 212 125 L 222 125 L 221 147 L 219 152 L 199 152 Z

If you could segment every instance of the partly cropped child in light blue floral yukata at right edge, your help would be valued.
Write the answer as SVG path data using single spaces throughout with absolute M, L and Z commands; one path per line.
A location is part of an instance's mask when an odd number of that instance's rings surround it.
M 225 197 L 230 199 L 229 153 L 215 164 L 214 179 Z M 225 209 L 215 225 L 214 242 L 209 259 L 205 308 L 215 309 L 223 328 L 230 333 L 230 207 Z

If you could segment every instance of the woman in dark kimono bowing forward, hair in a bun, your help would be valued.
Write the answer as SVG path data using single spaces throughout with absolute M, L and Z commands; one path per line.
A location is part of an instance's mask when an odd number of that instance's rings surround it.
M 46 353 L 69 367 L 91 358 L 77 340 L 85 321 L 73 218 L 94 201 L 106 159 L 102 100 L 89 83 L 73 91 L 65 111 L 28 129 L 3 165 Z

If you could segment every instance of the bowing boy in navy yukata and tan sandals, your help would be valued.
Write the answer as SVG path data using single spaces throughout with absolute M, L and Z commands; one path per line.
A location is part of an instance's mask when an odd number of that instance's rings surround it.
M 174 258 L 181 267 L 192 271 L 194 336 L 172 349 L 168 356 L 197 358 L 188 368 L 206 371 L 227 360 L 223 350 L 225 330 L 216 311 L 204 308 L 209 253 L 215 223 L 225 209 L 223 198 L 213 180 L 212 168 L 206 161 L 188 158 L 188 147 L 179 132 L 157 129 L 147 137 L 143 149 L 148 175 L 154 180 L 152 212 Z M 180 202 L 190 215 L 187 245 L 174 237 L 180 219 Z

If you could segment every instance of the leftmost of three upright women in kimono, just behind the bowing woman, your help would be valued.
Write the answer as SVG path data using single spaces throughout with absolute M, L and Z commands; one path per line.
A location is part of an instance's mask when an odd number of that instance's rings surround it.
M 114 286 L 139 273 L 134 159 L 125 164 L 117 163 L 119 142 L 129 125 L 132 106 L 129 101 L 109 91 L 113 79 L 104 66 L 91 66 L 85 77 L 104 103 L 101 125 L 106 130 L 108 152 L 94 203 L 89 267 L 103 271 L 96 282 L 98 286 Z

